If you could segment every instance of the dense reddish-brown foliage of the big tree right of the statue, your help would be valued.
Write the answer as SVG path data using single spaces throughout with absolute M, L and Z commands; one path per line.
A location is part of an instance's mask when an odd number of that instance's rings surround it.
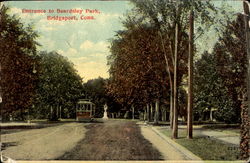
M 166 75 L 164 72 L 156 74 L 161 72 L 159 60 L 163 57 L 156 52 L 159 48 L 154 49 L 154 45 L 157 46 L 153 43 L 156 41 L 154 33 L 151 29 L 139 28 L 123 31 L 117 40 L 113 40 L 110 57 L 114 60 L 109 63 L 112 82 L 109 93 L 115 95 L 120 103 L 143 103 L 150 100 L 152 93 L 160 95 L 160 89 L 154 85 L 159 85 L 156 82 L 162 83 L 162 77 Z

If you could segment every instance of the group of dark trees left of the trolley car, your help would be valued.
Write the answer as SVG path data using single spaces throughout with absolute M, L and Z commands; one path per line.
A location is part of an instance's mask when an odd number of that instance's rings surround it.
M 74 117 L 75 103 L 83 97 L 74 65 L 56 52 L 38 52 L 33 27 L 7 11 L 1 8 L 1 118 Z

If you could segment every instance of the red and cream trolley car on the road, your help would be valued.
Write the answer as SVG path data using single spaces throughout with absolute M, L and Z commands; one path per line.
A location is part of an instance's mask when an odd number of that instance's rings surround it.
M 91 121 L 95 115 L 95 104 L 88 99 L 80 99 L 76 105 L 76 120 Z

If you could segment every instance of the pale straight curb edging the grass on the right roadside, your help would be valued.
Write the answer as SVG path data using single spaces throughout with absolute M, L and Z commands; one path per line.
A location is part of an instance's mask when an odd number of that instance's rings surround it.
M 169 137 L 165 136 L 161 132 L 159 132 L 155 127 L 150 127 L 157 135 L 159 135 L 162 139 L 167 141 L 171 146 L 173 146 L 176 150 L 180 151 L 183 153 L 187 158 L 190 160 L 197 160 L 197 161 L 202 161 L 202 159 L 195 154 L 193 154 L 191 151 L 189 151 L 187 148 L 181 146 L 180 144 L 176 143 Z

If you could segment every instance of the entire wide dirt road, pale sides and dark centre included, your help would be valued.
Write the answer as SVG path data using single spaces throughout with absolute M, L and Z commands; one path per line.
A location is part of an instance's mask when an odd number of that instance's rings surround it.
M 8 130 L 8 129 L 7 129 Z M 16 160 L 183 160 L 182 152 L 137 121 L 68 122 L 1 134 Z

